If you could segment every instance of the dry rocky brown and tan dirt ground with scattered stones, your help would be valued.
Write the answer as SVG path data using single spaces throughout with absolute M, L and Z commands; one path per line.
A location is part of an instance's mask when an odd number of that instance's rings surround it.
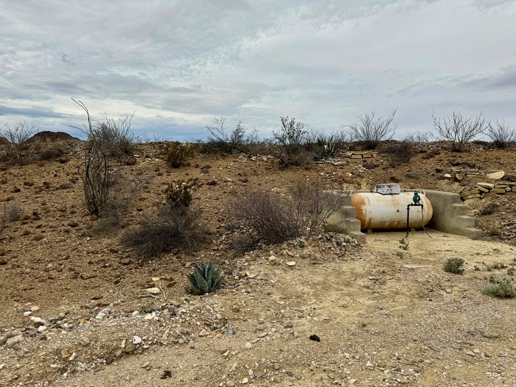
M 443 180 L 450 162 L 514 175 L 513 149 L 287 170 L 270 157 L 199 154 L 173 169 L 154 157 L 157 144 L 144 144 L 134 166 L 112 164 L 139 181 L 133 209 L 100 230 L 83 203 L 79 148 L 73 142 L 66 161 L 1 168 L 0 199 L 23 208 L 0 235 L 1 386 L 516 385 L 516 300 L 481 294 L 487 277 L 504 278 L 516 263 L 505 225 L 516 218 L 516 194 L 464 202 L 470 215 L 498 204 L 477 216 L 483 239 L 417 231 L 407 250 L 399 231 L 368 234 L 363 247 L 327 232 L 304 247 L 235 254 L 227 211 L 243 192 L 282 192 L 299 179 L 327 189 L 397 181 L 456 192 L 477 181 Z M 201 173 L 205 165 L 209 173 Z M 163 200 L 165 184 L 190 176 L 202 183 L 193 206 L 211 243 L 141 262 L 121 236 Z M 465 261 L 463 275 L 443 270 L 456 257 Z M 209 259 L 224 269 L 225 285 L 191 296 L 186 274 Z M 150 287 L 160 292 L 138 297 Z

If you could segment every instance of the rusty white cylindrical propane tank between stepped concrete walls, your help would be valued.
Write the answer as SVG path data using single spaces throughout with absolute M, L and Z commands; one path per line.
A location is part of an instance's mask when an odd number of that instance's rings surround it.
M 420 206 L 410 207 L 409 228 L 419 229 L 432 219 L 433 208 L 424 192 L 419 193 Z M 351 206 L 357 210 L 362 230 L 393 230 L 407 228 L 407 205 L 413 203 L 414 192 L 382 195 L 379 192 L 360 192 L 351 195 Z

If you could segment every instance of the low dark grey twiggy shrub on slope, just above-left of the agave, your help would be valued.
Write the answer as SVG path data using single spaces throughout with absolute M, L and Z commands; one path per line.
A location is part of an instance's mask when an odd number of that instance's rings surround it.
M 121 243 L 135 248 L 145 259 L 151 259 L 171 248 L 195 250 L 205 239 L 200 211 L 159 206 L 154 215 L 144 218 L 138 228 L 127 232 Z

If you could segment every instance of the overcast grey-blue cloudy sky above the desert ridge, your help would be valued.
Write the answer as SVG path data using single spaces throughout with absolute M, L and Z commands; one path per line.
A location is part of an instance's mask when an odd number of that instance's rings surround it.
M 516 124 L 515 0 L 0 0 L 0 126 L 135 112 L 186 140 L 214 116 L 263 137 L 280 117 L 331 131 L 398 107 Z

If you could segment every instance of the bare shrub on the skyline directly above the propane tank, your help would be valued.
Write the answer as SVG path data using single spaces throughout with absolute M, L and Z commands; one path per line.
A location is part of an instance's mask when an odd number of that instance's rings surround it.
M 351 141 L 359 142 L 365 150 L 375 149 L 380 141 L 390 140 L 396 133 L 394 116 L 398 109 L 392 109 L 391 115 L 387 118 L 375 118 L 375 112 L 358 116 L 358 120 L 345 127 Z

